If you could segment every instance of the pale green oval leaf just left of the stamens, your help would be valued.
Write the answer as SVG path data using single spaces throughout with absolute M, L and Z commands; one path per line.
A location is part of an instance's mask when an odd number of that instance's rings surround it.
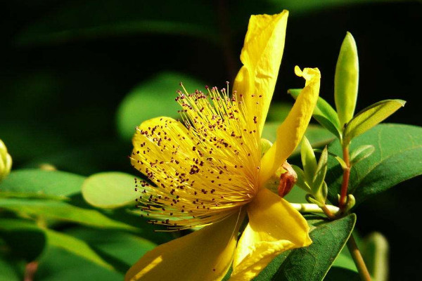
M 95 207 L 114 209 L 135 203 L 139 193 L 134 188 L 134 176 L 106 172 L 89 176 L 82 185 L 82 195 Z

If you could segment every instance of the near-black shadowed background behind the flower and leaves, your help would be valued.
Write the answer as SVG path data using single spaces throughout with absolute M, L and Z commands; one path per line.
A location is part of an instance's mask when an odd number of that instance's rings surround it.
M 283 8 L 290 15 L 274 100 L 292 102 L 286 91 L 302 86 L 293 73 L 300 65 L 319 67 L 320 95 L 333 105 L 335 63 L 350 31 L 359 52 L 357 111 L 400 98 L 407 105 L 388 122 L 422 125 L 421 2 L 141 2 L 2 4 L 0 138 L 13 169 L 50 163 L 84 175 L 133 173 L 131 145 L 115 121 L 124 96 L 163 70 L 224 86 L 241 67 L 249 15 Z M 415 280 L 422 266 L 420 182 L 404 182 L 357 212 L 359 233 L 378 230 L 388 238 L 391 280 Z

